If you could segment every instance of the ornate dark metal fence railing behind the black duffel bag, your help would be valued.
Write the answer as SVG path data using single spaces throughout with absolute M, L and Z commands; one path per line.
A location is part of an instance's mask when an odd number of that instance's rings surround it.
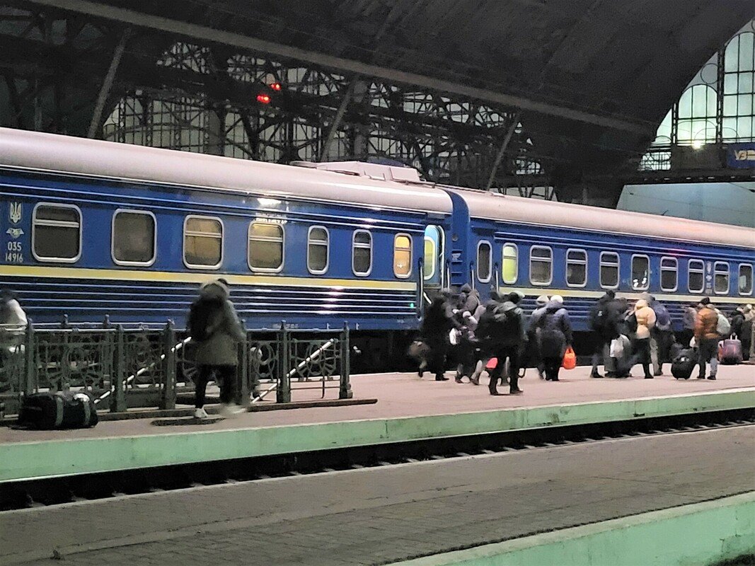
M 175 408 L 193 391 L 193 343 L 168 322 L 162 329 L 103 325 L 72 328 L 0 328 L 0 404 L 16 414 L 23 395 L 84 390 L 100 408 Z M 250 331 L 239 344 L 237 402 L 258 402 L 275 392 L 291 402 L 292 392 L 317 389 L 320 398 L 337 390 L 351 398 L 349 329 L 341 331 Z

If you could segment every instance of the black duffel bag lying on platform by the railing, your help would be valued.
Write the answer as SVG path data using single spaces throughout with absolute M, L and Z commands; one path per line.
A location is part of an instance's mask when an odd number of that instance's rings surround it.
M 26 395 L 18 414 L 19 426 L 29 429 L 87 429 L 98 421 L 92 398 L 73 391 Z

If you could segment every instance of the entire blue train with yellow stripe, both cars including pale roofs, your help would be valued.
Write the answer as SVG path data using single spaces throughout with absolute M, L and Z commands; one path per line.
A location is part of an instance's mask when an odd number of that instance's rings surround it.
M 575 327 L 607 289 L 681 306 L 753 300 L 755 232 L 439 186 L 358 162 L 274 165 L 0 129 L 0 282 L 35 324 L 182 326 L 224 277 L 248 328 L 390 343 L 433 291 L 561 294 Z M 402 333 L 405 337 L 405 332 Z

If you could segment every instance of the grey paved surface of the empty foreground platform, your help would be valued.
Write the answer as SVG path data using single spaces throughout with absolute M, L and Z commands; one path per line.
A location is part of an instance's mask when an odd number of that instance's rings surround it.
M 755 490 L 755 426 L 0 513 L 0 564 L 387 564 Z

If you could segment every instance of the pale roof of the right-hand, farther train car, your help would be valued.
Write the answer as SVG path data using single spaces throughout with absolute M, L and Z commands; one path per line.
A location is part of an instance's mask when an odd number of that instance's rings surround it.
M 755 230 L 742 226 L 497 195 L 470 189 L 449 190 L 464 196 L 470 216 L 476 218 L 755 248 Z

